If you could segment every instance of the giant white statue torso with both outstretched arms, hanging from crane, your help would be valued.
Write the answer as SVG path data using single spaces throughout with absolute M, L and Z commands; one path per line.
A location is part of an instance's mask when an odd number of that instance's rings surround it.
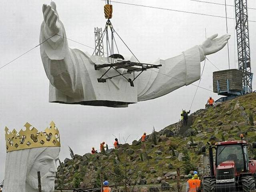
M 192 47 L 176 57 L 158 59 L 152 64 L 161 64 L 162 67 L 142 72 L 134 81 L 134 87 L 122 76 L 99 83 L 97 78 L 105 69 L 96 71 L 94 64 L 108 63 L 108 59 L 90 56 L 68 47 L 64 25 L 59 20 L 54 2 L 48 6 L 43 5 L 43 14 L 40 50 L 44 69 L 50 80 L 50 102 L 127 107 L 138 101 L 158 98 L 198 80 L 200 62 L 205 55 L 222 49 L 230 38 L 230 35 L 216 38 L 218 34 L 215 34 L 202 45 Z M 118 70 L 122 72 L 123 69 Z M 118 72 L 113 70 L 108 73 L 110 74 L 116 75 Z M 130 78 L 134 74 L 126 76 Z

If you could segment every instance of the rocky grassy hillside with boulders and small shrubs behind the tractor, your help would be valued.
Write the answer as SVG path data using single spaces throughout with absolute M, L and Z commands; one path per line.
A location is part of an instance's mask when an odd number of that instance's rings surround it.
M 208 174 L 208 157 L 201 146 L 207 141 L 256 140 L 256 93 L 216 104 L 191 114 L 191 127 L 183 135 L 174 135 L 176 124 L 148 135 L 147 142 L 134 140 L 106 153 L 74 155 L 58 167 L 58 188 L 94 188 L 101 179 L 135 191 L 172 190 L 177 187 L 177 168 L 181 184 L 191 170 Z M 253 158 L 256 153 L 250 150 Z M 183 186 L 185 188 L 185 186 Z

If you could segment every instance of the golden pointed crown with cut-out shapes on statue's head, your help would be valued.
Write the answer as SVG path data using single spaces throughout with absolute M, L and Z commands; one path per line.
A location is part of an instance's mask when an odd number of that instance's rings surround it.
M 25 131 L 21 129 L 19 133 L 15 129 L 10 132 L 8 127 L 5 127 L 6 152 L 36 147 L 60 147 L 60 133 L 53 121 L 50 128 L 47 127 L 44 132 L 39 132 L 29 123 L 24 127 Z

